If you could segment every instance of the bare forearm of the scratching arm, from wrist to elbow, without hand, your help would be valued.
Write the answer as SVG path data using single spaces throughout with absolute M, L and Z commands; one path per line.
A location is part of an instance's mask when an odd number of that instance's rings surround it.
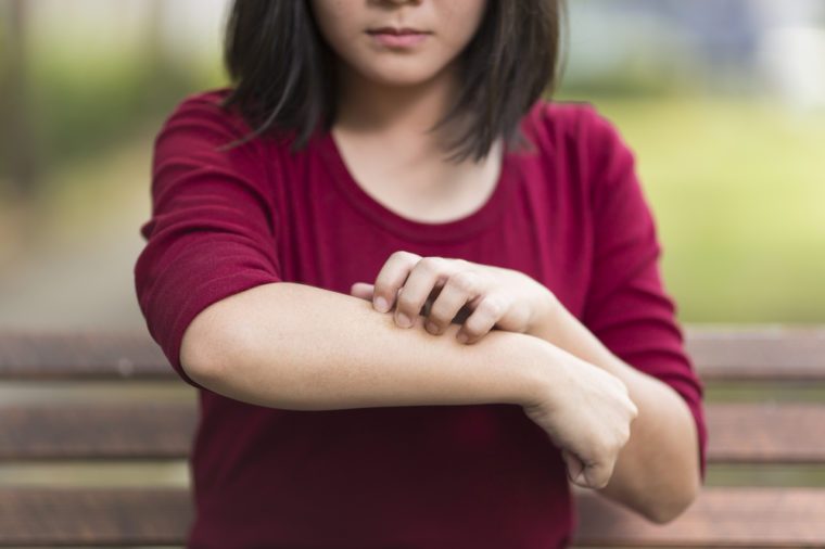
M 599 491 L 657 522 L 680 514 L 700 484 L 696 423 L 684 399 L 619 359 L 563 306 L 549 306 L 530 334 L 622 380 L 638 408 L 610 483 Z

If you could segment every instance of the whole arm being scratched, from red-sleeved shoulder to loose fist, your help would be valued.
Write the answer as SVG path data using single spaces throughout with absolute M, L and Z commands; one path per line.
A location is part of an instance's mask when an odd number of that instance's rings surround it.
M 464 345 L 459 324 L 398 328 L 364 299 L 283 280 L 278 159 L 258 140 L 220 149 L 249 128 L 218 99 L 185 101 L 158 133 L 135 265 L 149 332 L 183 381 L 295 410 L 517 404 L 586 463 L 593 487 L 607 484 L 633 411 L 618 378 L 538 337 Z

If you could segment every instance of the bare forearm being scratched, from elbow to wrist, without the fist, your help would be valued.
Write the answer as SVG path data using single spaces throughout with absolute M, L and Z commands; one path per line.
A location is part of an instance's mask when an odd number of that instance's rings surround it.
M 546 378 L 546 344 L 534 337 L 496 332 L 461 345 L 416 322 L 398 328 L 391 314 L 344 294 L 264 284 L 195 317 L 181 362 L 216 393 L 297 410 L 523 404 Z

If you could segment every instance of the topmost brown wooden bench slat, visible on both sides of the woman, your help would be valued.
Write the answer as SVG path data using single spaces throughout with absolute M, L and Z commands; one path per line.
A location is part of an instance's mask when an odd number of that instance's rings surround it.
M 825 382 L 825 327 L 685 328 L 706 381 Z M 0 379 L 166 379 L 177 374 L 144 332 L 0 331 Z

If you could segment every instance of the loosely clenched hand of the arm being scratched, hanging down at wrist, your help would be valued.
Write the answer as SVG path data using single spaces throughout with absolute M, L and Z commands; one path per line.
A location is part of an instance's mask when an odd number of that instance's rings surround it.
M 563 353 L 554 360 L 561 371 L 548 375 L 545 388 L 523 407 L 524 412 L 561 449 L 570 481 L 600 489 L 613 474 L 638 409 L 619 378 L 556 349 Z

